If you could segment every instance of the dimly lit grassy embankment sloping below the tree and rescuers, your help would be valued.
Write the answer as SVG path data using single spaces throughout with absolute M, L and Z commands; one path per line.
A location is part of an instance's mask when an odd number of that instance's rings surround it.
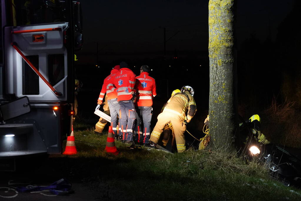
M 106 144 L 92 129 L 77 130 L 75 139 Z M 267 168 L 244 162 L 235 153 L 188 150 L 170 154 L 160 150 L 130 150 L 120 142 L 119 155 L 104 146 L 76 141 L 79 153 L 55 156 L 58 172 L 80 179 L 98 191 L 101 200 L 300 200 L 301 191 L 269 178 Z M 64 164 L 64 165 L 63 165 Z

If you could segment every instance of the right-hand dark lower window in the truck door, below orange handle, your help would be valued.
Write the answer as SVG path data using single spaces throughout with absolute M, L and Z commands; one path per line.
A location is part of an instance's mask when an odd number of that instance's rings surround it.
M 48 55 L 48 81 L 54 86 L 65 76 L 64 54 Z

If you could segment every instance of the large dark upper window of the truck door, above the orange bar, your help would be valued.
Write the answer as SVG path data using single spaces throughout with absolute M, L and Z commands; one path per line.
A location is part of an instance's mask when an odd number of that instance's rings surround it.
M 12 26 L 66 22 L 64 1 L 10 0 Z

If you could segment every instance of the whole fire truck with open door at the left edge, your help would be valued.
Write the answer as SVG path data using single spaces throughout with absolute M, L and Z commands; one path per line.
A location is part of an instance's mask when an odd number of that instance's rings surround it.
M 70 0 L 1 0 L 0 6 L 1 171 L 17 157 L 62 153 L 72 126 L 82 14 Z

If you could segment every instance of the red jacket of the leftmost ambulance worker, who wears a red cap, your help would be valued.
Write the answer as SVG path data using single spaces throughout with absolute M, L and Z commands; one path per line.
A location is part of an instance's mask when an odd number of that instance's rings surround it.
M 119 73 L 119 70 L 113 69 L 111 70 L 111 74 L 104 79 L 104 84 L 102 85 L 101 92 L 99 94 L 98 100 L 102 102 L 104 99 L 104 94 L 107 93 L 108 100 L 117 98 L 117 92 L 114 91 L 116 89 L 114 87 L 113 81 L 114 76 Z

